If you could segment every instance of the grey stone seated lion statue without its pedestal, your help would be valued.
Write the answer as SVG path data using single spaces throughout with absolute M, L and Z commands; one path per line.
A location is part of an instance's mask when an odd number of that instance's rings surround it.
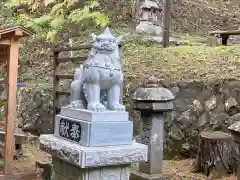
M 76 69 L 71 84 L 72 108 L 91 111 L 124 111 L 120 104 L 123 72 L 119 44 L 122 37 L 114 37 L 109 28 L 100 35 L 92 34 L 93 44 L 88 59 Z

